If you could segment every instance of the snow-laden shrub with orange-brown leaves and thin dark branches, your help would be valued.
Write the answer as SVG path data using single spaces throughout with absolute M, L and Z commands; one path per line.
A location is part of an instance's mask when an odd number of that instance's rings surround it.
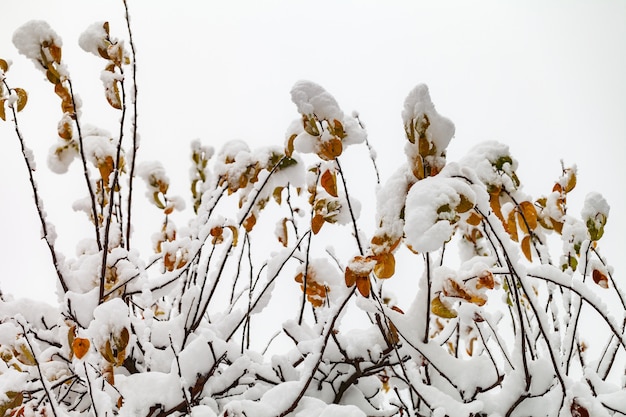
M 107 130 L 81 122 L 48 26 L 17 33 L 61 100 L 49 165 L 82 163 L 73 207 L 93 229 L 74 259 L 57 253 L 24 152 L 59 304 L 0 296 L 0 414 L 626 414 L 626 302 L 601 255 L 609 205 L 591 193 L 580 217 L 568 212 L 575 167 L 535 198 L 506 145 L 446 161 L 454 125 L 419 85 L 402 110 L 406 162 L 357 195 L 367 165 L 347 149 L 365 129 L 301 81 L 281 146 L 192 142 L 186 211 L 160 162 L 134 167 L 136 143 L 127 158 L 134 57 L 108 24 L 80 39 L 106 60 L 106 99 L 123 110 Z M 2 119 L 17 127 L 26 96 L 8 69 L 0 60 Z M 147 202 L 133 200 L 133 176 Z M 361 204 L 376 205 L 373 227 Z M 131 247 L 133 205 L 161 218 L 151 254 Z

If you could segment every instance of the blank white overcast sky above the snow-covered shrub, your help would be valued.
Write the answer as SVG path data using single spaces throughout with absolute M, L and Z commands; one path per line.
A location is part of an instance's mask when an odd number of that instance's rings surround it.
M 534 197 L 551 191 L 560 159 L 578 165 L 570 207 L 578 213 L 592 190 L 607 198 L 611 215 L 601 249 L 626 285 L 618 264 L 626 243 L 626 2 L 129 3 L 138 49 L 140 159 L 162 160 L 181 194 L 188 188 L 192 139 L 217 148 L 233 138 L 251 147 L 282 144 L 298 117 L 289 91 L 299 79 L 321 84 L 344 111 L 359 111 L 384 180 L 404 160 L 404 98 L 426 83 L 438 111 L 456 125 L 449 160 L 483 140 L 504 142 Z M 83 121 L 115 132 L 119 116 L 105 103 L 99 80 L 104 61 L 80 50 L 77 40 L 98 20 L 125 37 L 122 1 L 4 0 L 1 8 L 0 58 L 13 61 L 11 86 L 30 94 L 21 128 L 35 152 L 60 248 L 73 257 L 73 239 L 91 231 L 70 209 L 82 197 L 74 188 L 82 182 L 46 167 L 60 106 L 11 37 L 28 20 L 47 20 L 63 37 Z M 0 142 L 0 286 L 50 299 L 55 275 L 8 122 L 0 123 Z M 80 175 L 75 165 L 70 174 Z

